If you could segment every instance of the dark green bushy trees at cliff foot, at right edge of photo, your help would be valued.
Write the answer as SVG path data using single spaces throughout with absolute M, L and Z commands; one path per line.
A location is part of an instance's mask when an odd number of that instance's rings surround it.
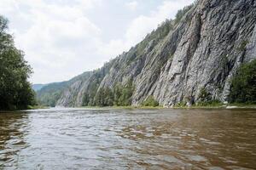
M 230 103 L 256 104 L 256 59 L 243 64 L 231 81 Z

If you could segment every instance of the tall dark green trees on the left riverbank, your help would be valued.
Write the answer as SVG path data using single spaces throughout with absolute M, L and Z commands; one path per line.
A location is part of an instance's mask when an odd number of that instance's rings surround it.
M 36 104 L 27 81 L 32 69 L 7 29 L 8 20 L 0 16 L 0 110 L 24 109 Z

